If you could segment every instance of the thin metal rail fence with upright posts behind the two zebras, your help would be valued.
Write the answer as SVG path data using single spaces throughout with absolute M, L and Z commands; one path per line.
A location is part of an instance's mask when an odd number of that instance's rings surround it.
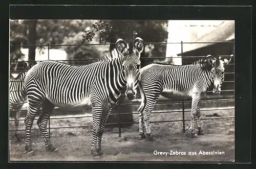
M 173 44 L 181 44 L 181 56 L 183 56 L 183 44 L 189 44 L 189 43 L 234 43 L 233 41 L 219 41 L 219 42 L 175 42 Z M 65 44 L 66 46 L 69 45 L 109 45 L 111 43 L 100 43 L 100 44 Z M 145 44 L 167 44 L 166 42 L 154 42 L 154 43 L 145 43 Z M 50 58 L 50 46 L 65 46 L 62 44 L 54 44 L 54 45 L 13 45 L 16 47 L 28 47 L 28 46 L 47 46 L 48 48 L 48 60 Z M 222 55 L 222 57 L 227 57 L 229 55 Z M 182 59 L 186 59 L 186 58 L 202 58 L 205 56 L 189 56 L 189 57 L 182 57 Z M 173 59 L 173 58 L 177 58 L 177 57 L 150 57 L 150 58 L 141 58 L 141 59 L 164 59 L 164 58 L 169 58 L 169 59 Z M 179 57 L 180 58 L 180 57 Z M 98 59 L 72 59 L 72 60 L 57 60 L 57 61 L 91 61 L 91 60 L 95 60 L 97 61 Z M 10 63 L 17 63 L 17 62 L 24 62 L 24 61 L 11 61 Z M 26 61 L 26 62 L 34 62 L 34 61 Z M 36 62 L 41 62 L 40 61 L 36 61 Z M 229 65 L 233 65 L 229 64 Z M 24 70 L 27 71 L 27 70 Z M 12 71 L 13 73 L 21 73 L 24 71 Z M 224 74 L 234 74 L 234 72 L 228 72 L 228 73 L 224 73 Z M 234 83 L 234 81 L 224 81 L 223 83 Z M 19 90 L 10 90 L 10 91 L 19 91 Z M 222 90 L 222 92 L 225 91 L 233 91 L 234 89 L 231 90 Z M 212 92 L 212 91 L 207 91 L 207 93 Z M 122 94 L 123 95 L 123 94 Z M 140 95 L 140 93 L 138 93 L 138 95 Z M 202 100 L 202 102 L 224 102 L 224 101 L 234 101 L 234 99 L 214 99 L 214 100 Z M 24 102 L 27 103 L 27 102 Z M 183 126 L 183 133 L 185 132 L 185 122 L 190 120 L 190 119 L 185 119 L 185 112 L 189 112 L 190 110 L 185 110 L 185 103 L 191 103 L 191 101 L 185 101 L 184 99 L 182 99 L 181 101 L 168 101 L 168 102 L 164 102 L 164 103 L 159 103 L 157 102 L 157 105 L 159 104 L 174 104 L 174 103 L 181 103 L 182 104 L 182 109 L 181 110 L 175 110 L 175 111 L 161 111 L 161 112 L 152 112 L 152 114 L 154 113 L 182 113 L 182 119 L 181 120 L 163 120 L 163 121 L 154 121 L 151 123 L 169 123 L 169 122 L 182 122 L 182 126 Z M 22 103 L 16 103 L 16 104 L 22 104 Z M 118 106 L 118 110 L 120 110 L 120 107 L 122 105 L 138 105 L 137 104 L 131 104 L 131 103 L 118 103 L 116 106 Z M 59 108 L 54 108 L 54 109 L 59 109 Z M 228 107 L 228 108 L 207 108 L 207 109 L 200 109 L 200 111 L 210 111 L 210 110 L 230 110 L 230 109 L 234 109 L 233 107 Z M 15 112 L 15 111 L 19 111 L 19 110 L 11 110 L 10 112 Z M 20 111 L 27 111 L 27 110 L 20 110 Z M 106 125 L 118 125 L 119 128 L 119 137 L 121 137 L 121 126 L 123 124 L 138 124 L 138 122 L 133 122 L 133 123 L 121 123 L 120 120 L 120 116 L 121 114 L 137 114 L 137 113 L 112 113 L 110 115 L 118 115 L 119 116 L 119 122 L 118 123 L 108 123 Z M 51 119 L 70 119 L 70 118 L 88 118 L 88 117 L 92 117 L 92 115 L 89 116 L 74 116 L 74 117 L 51 117 L 49 118 L 49 123 L 48 123 L 48 130 L 49 130 L 49 136 L 50 136 L 50 130 L 51 129 L 63 129 L 63 128 L 79 128 L 79 127 L 92 127 L 92 125 L 82 125 L 82 126 L 67 126 L 67 127 L 51 127 Z M 234 116 L 225 116 L 225 117 L 211 117 L 211 118 L 201 118 L 201 120 L 209 120 L 209 119 L 224 119 L 224 118 L 234 118 Z M 37 120 L 38 118 L 35 118 L 35 120 Z M 22 121 L 24 119 L 19 119 L 19 121 Z M 14 121 L 14 119 L 10 119 L 10 122 Z M 31 129 L 31 130 L 39 130 L 39 129 Z M 23 130 L 9 130 L 10 132 L 13 131 L 25 131 L 25 129 Z

